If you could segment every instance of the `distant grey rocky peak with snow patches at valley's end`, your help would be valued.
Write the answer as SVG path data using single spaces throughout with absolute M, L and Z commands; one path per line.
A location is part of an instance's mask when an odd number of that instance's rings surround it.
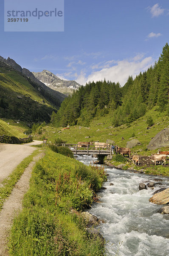
M 53 90 L 57 90 L 66 95 L 72 94 L 73 90 L 79 89 L 82 85 L 78 84 L 76 81 L 62 80 L 55 76 L 48 70 L 43 70 L 42 72 L 32 72 L 34 76 L 45 85 Z

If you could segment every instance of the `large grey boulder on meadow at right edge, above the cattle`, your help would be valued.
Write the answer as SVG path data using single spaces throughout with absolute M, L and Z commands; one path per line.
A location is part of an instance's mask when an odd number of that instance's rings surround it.
M 153 150 L 156 148 L 169 146 L 169 128 L 164 128 L 158 132 L 155 137 L 149 142 L 148 149 Z

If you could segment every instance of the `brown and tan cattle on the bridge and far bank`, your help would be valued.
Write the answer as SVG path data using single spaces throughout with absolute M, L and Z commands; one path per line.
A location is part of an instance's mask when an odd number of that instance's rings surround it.
M 95 150 L 99 150 L 99 149 L 107 149 L 110 150 L 110 144 L 108 143 L 101 143 L 101 142 L 78 142 L 78 149 L 82 148 L 82 147 L 89 147 L 90 145 L 95 145 Z M 114 148 L 115 150 L 115 154 L 121 154 L 121 155 L 128 155 L 129 158 L 131 158 L 131 150 L 130 148 L 121 148 L 118 146 L 115 146 Z M 157 154 L 151 154 L 151 156 L 149 156 L 149 159 L 155 163 L 161 163 L 164 165 L 166 165 L 166 157 L 169 157 L 169 151 L 158 151 Z M 138 164 L 139 165 L 139 156 L 138 155 L 133 155 L 132 156 L 132 162 L 133 164 Z

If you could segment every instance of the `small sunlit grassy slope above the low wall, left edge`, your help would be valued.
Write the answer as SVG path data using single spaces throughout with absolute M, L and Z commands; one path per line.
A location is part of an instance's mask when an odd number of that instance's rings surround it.
M 0 136 L 3 134 L 6 136 L 14 136 L 17 138 L 24 138 L 25 134 L 23 134 L 24 128 L 14 125 L 8 125 L 7 122 L 4 122 L 0 119 Z

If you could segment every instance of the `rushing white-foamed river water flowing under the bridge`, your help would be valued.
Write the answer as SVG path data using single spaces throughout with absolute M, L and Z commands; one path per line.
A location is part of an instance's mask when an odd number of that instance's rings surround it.
M 77 160 L 89 165 L 97 159 L 84 155 Z M 99 231 L 107 241 L 107 255 L 169 256 L 169 215 L 157 213 L 163 206 L 149 203 L 155 190 L 169 186 L 169 178 L 109 166 L 105 170 L 109 174 L 104 183 L 107 189 L 97 193 L 101 203 L 93 203 L 88 212 L 105 222 L 99 225 Z M 155 185 L 153 190 L 138 190 L 140 182 L 155 178 L 160 178 L 162 185 Z

